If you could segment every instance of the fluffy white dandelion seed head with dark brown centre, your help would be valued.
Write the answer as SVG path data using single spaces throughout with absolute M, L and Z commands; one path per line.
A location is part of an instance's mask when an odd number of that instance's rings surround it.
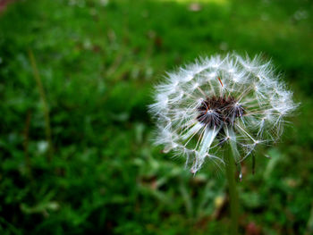
M 228 54 L 167 73 L 149 111 L 157 122 L 155 143 L 184 155 L 197 172 L 206 159 L 224 163 L 227 145 L 239 164 L 259 144 L 275 141 L 296 107 L 271 62 Z

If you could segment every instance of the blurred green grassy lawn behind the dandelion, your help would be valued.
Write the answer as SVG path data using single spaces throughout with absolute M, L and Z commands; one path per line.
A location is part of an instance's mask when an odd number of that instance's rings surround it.
M 301 103 L 242 166 L 241 234 L 313 234 L 312 1 L 0 2 L 0 234 L 225 234 L 224 172 L 153 147 L 147 106 L 228 51 L 272 58 Z

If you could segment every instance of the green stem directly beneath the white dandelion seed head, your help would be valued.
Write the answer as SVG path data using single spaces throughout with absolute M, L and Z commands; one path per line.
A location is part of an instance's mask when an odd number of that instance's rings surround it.
M 236 189 L 235 180 L 235 163 L 234 163 L 234 149 L 231 145 L 232 151 L 226 155 L 226 177 L 228 180 L 229 198 L 231 204 L 231 227 L 230 233 L 232 235 L 238 234 L 238 217 L 239 217 L 239 203 L 238 203 L 238 193 Z

